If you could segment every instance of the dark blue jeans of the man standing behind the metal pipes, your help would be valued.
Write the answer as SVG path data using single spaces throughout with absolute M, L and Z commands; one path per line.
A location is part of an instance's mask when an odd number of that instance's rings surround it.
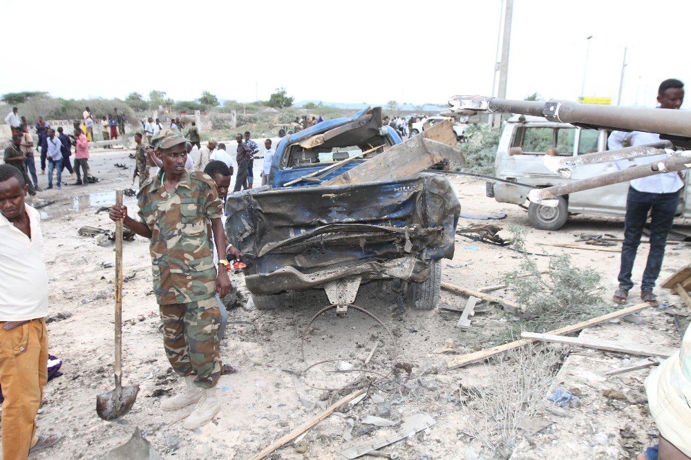
M 650 211 L 650 251 L 648 252 L 641 290 L 652 290 L 662 268 L 667 236 L 672 229 L 674 213 L 679 206 L 679 192 L 647 193 L 629 187 L 624 218 L 624 244 L 621 248 L 619 287 L 627 291 L 634 287 L 631 271 L 636 260 L 636 251 L 641 244 L 643 227 Z

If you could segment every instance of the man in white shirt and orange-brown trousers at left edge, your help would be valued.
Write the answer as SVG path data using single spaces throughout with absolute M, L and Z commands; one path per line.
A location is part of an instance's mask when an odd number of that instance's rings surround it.
M 26 459 L 61 434 L 36 434 L 36 414 L 48 381 L 48 271 L 38 211 L 24 204 L 19 169 L 0 165 L 0 386 L 2 457 Z

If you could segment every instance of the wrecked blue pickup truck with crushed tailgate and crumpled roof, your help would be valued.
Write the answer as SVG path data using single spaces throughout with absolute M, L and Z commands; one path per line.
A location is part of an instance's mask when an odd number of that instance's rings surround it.
M 400 142 L 378 107 L 328 120 L 279 142 L 269 186 L 228 196 L 226 233 L 252 261 L 245 282 L 258 309 L 318 288 L 345 314 L 375 280 L 390 280 L 406 307 L 435 308 L 460 214 L 448 180 L 320 185 Z

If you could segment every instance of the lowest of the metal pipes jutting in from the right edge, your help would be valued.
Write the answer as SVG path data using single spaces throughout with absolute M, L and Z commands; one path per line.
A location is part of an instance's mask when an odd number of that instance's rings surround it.
M 652 162 L 632 166 L 631 168 L 613 171 L 594 178 L 574 180 L 567 184 L 547 187 L 545 189 L 533 189 L 528 193 L 528 200 L 543 206 L 556 207 L 556 198 L 561 195 L 568 195 L 578 191 L 596 189 L 605 185 L 617 184 L 628 180 L 645 178 L 650 175 L 670 173 L 673 171 L 683 171 L 691 168 L 691 151 L 676 152 L 673 157 L 663 162 Z

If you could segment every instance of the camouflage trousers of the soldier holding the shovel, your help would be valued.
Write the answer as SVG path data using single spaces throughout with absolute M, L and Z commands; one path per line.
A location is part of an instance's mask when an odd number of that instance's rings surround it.
M 195 385 L 211 388 L 220 377 L 216 298 L 190 303 L 159 305 L 163 322 L 163 346 L 173 370 L 180 376 L 193 374 Z

